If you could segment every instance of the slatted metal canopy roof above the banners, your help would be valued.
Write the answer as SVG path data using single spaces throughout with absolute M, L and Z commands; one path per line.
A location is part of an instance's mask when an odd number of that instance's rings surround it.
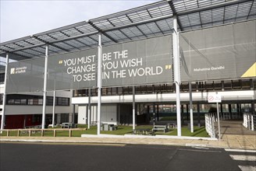
M 135 9 L 90 19 L 55 30 L 10 40 L 0 44 L 0 56 L 13 60 L 37 58 L 78 51 L 102 44 L 115 44 L 172 33 L 172 19 L 177 17 L 180 31 L 195 30 L 256 18 L 255 0 L 171 0 L 155 2 Z

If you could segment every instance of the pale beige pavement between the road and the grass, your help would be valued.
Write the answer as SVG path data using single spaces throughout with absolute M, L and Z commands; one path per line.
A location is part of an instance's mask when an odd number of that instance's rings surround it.
M 0 141 L 24 141 L 44 143 L 88 143 L 88 144 L 136 144 L 179 145 L 201 148 L 234 148 L 256 150 L 256 131 L 248 131 L 239 123 L 221 122 L 222 138 L 194 138 L 178 136 L 147 135 L 85 135 L 82 137 L 0 137 Z

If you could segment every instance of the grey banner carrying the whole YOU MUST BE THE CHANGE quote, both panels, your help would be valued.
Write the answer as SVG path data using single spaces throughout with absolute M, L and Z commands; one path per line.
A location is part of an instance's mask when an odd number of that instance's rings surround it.
M 172 82 L 171 36 L 103 47 L 102 87 Z M 48 90 L 97 87 L 97 48 L 48 57 Z

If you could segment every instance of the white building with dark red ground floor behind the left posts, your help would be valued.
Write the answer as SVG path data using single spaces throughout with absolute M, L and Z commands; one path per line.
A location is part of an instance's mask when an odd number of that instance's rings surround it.
M 4 75 L 1 73 L 0 75 Z M 2 98 L 4 92 L 4 82 L 0 84 L 0 114 L 2 115 Z M 73 105 L 71 104 L 72 91 L 55 92 L 55 106 L 53 106 L 53 92 L 47 95 L 46 124 L 52 124 L 52 113 L 55 113 L 55 124 L 62 122 L 73 122 L 77 120 L 77 113 L 73 115 Z M 43 96 L 40 92 L 9 94 L 5 104 L 5 128 L 24 128 L 42 123 Z M 53 107 L 55 111 L 53 111 Z M 75 116 L 75 117 L 74 117 Z

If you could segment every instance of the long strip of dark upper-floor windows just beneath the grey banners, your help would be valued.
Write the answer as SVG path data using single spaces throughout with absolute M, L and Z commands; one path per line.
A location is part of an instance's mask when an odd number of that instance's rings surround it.
M 174 84 L 158 84 L 135 86 L 136 94 L 175 92 Z M 236 79 L 208 82 L 193 82 L 192 92 L 215 92 L 256 89 L 256 79 Z M 183 82 L 180 85 L 180 92 L 189 92 L 189 83 Z M 89 96 L 88 89 L 76 89 L 74 96 Z M 132 86 L 102 88 L 102 96 L 118 96 L 133 94 Z M 91 96 L 98 96 L 98 89 L 91 89 Z

